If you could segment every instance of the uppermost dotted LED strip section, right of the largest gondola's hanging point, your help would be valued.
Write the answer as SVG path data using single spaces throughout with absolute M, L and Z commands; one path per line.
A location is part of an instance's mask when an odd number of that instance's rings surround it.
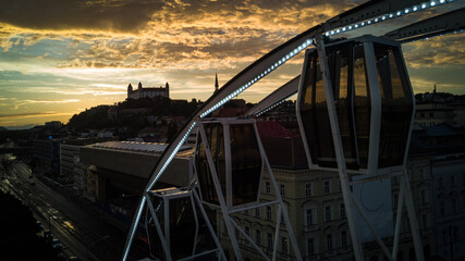
M 368 25 L 374 25 L 374 24 L 381 23 L 381 22 L 384 22 L 384 21 L 388 21 L 388 20 L 393 20 L 393 18 L 396 18 L 396 17 L 401 17 L 401 16 L 407 15 L 409 13 L 415 13 L 415 12 L 418 12 L 418 11 L 424 11 L 424 10 L 427 10 L 427 9 L 430 9 L 430 8 L 435 8 L 435 7 L 440 5 L 440 4 L 450 3 L 450 2 L 453 2 L 453 1 L 454 0 L 432 0 L 432 1 L 423 2 L 423 3 L 419 3 L 419 4 L 415 4 L 415 5 L 411 7 L 411 8 L 405 8 L 403 10 L 397 10 L 396 12 L 387 13 L 387 14 L 379 15 L 379 16 L 374 17 L 374 18 L 364 20 L 364 21 L 358 22 L 358 23 L 354 23 L 354 24 L 351 24 L 351 25 L 347 25 L 347 26 L 343 26 L 343 27 L 339 27 L 339 28 L 335 28 L 335 29 L 331 29 L 331 30 L 326 32 L 325 35 L 326 36 L 332 36 L 332 35 L 338 35 L 338 34 L 346 33 L 348 30 L 354 30 L 354 29 L 358 29 L 358 28 L 362 28 L 362 27 L 365 27 L 365 26 L 368 26 Z

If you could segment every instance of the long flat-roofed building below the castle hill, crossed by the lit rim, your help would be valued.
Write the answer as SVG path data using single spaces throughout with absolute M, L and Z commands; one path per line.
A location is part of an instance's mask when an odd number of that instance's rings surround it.
M 83 197 L 130 222 L 137 196 L 166 147 L 166 144 L 134 141 L 106 141 L 82 147 Z M 192 148 L 181 148 L 166 172 L 159 188 L 187 186 L 193 176 Z

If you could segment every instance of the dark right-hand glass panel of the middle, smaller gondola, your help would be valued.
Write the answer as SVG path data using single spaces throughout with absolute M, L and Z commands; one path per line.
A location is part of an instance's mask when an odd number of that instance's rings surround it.
M 258 199 L 261 156 L 253 124 L 230 125 L 233 204 Z

